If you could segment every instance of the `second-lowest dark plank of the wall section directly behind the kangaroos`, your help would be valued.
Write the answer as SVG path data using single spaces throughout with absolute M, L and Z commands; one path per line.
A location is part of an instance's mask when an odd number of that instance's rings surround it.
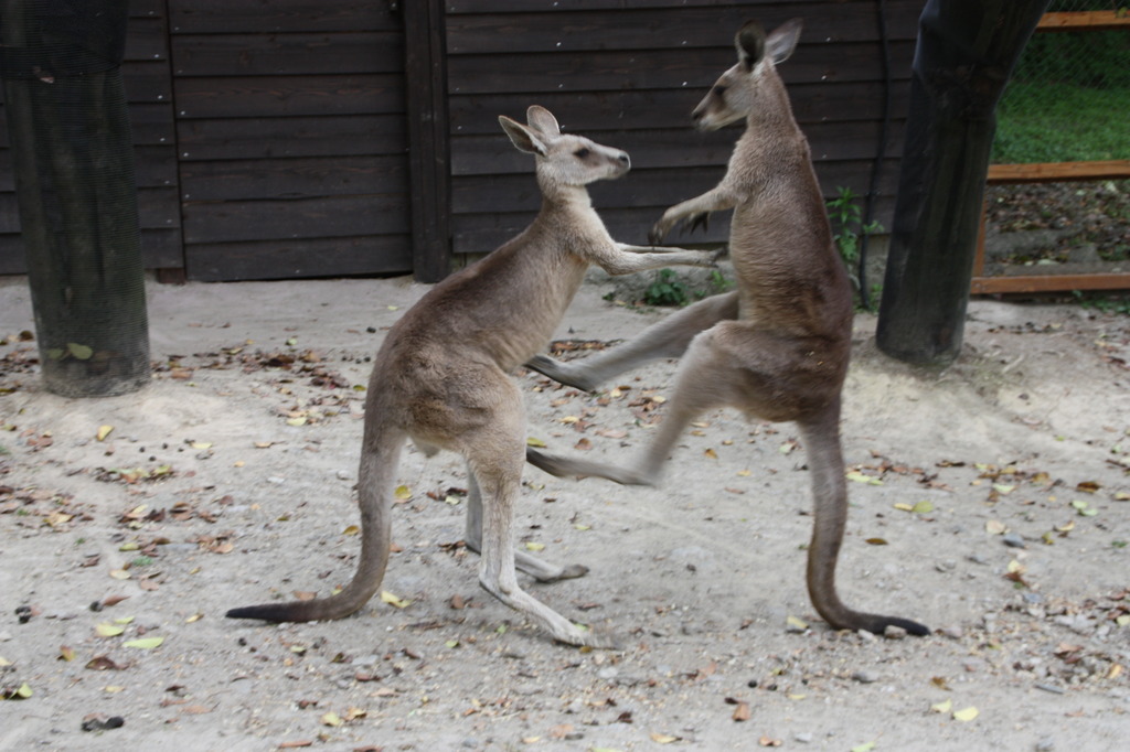
M 862 192 L 861 177 L 869 175 L 870 160 L 828 161 L 818 165 L 816 174 L 825 196 L 836 195 L 836 187 L 851 186 Z M 878 192 L 893 195 L 897 190 L 895 169 L 884 170 Z M 725 167 L 693 167 L 686 169 L 635 169 L 618 181 L 594 183 L 589 186 L 592 202 L 598 209 L 610 208 L 667 208 L 714 187 L 725 173 Z M 452 181 L 452 211 L 489 213 L 496 211 L 534 211 L 541 196 L 532 169 L 525 175 L 476 175 Z

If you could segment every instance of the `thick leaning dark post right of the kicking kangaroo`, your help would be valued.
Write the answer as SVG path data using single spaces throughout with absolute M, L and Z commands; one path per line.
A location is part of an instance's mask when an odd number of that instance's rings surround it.
M 945 366 L 960 353 L 997 102 L 1048 0 L 929 0 L 876 340 Z

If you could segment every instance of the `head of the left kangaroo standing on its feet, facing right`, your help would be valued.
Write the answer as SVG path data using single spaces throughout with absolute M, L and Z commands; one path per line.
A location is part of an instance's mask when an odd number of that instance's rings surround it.
M 498 116 L 498 123 L 520 151 L 538 158 L 538 184 L 542 191 L 560 186 L 583 186 L 619 177 L 632 161 L 626 151 L 611 149 L 584 138 L 562 133 L 557 119 L 545 107 L 525 111 L 525 125 Z

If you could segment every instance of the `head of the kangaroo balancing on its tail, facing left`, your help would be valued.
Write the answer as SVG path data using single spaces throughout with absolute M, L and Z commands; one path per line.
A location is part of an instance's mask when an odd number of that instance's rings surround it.
M 758 106 L 768 106 L 760 97 L 762 90 L 766 81 L 777 78 L 774 67 L 797 49 L 800 26 L 800 19 L 793 18 L 766 36 L 757 21 L 746 21 L 733 38 L 737 64 L 722 73 L 690 113 L 699 130 L 718 130 L 746 119 Z

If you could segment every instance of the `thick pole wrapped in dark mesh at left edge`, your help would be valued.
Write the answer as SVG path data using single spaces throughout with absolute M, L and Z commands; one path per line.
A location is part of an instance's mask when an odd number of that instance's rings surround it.
M 149 379 L 125 0 L 0 0 L 0 77 L 47 390 Z

